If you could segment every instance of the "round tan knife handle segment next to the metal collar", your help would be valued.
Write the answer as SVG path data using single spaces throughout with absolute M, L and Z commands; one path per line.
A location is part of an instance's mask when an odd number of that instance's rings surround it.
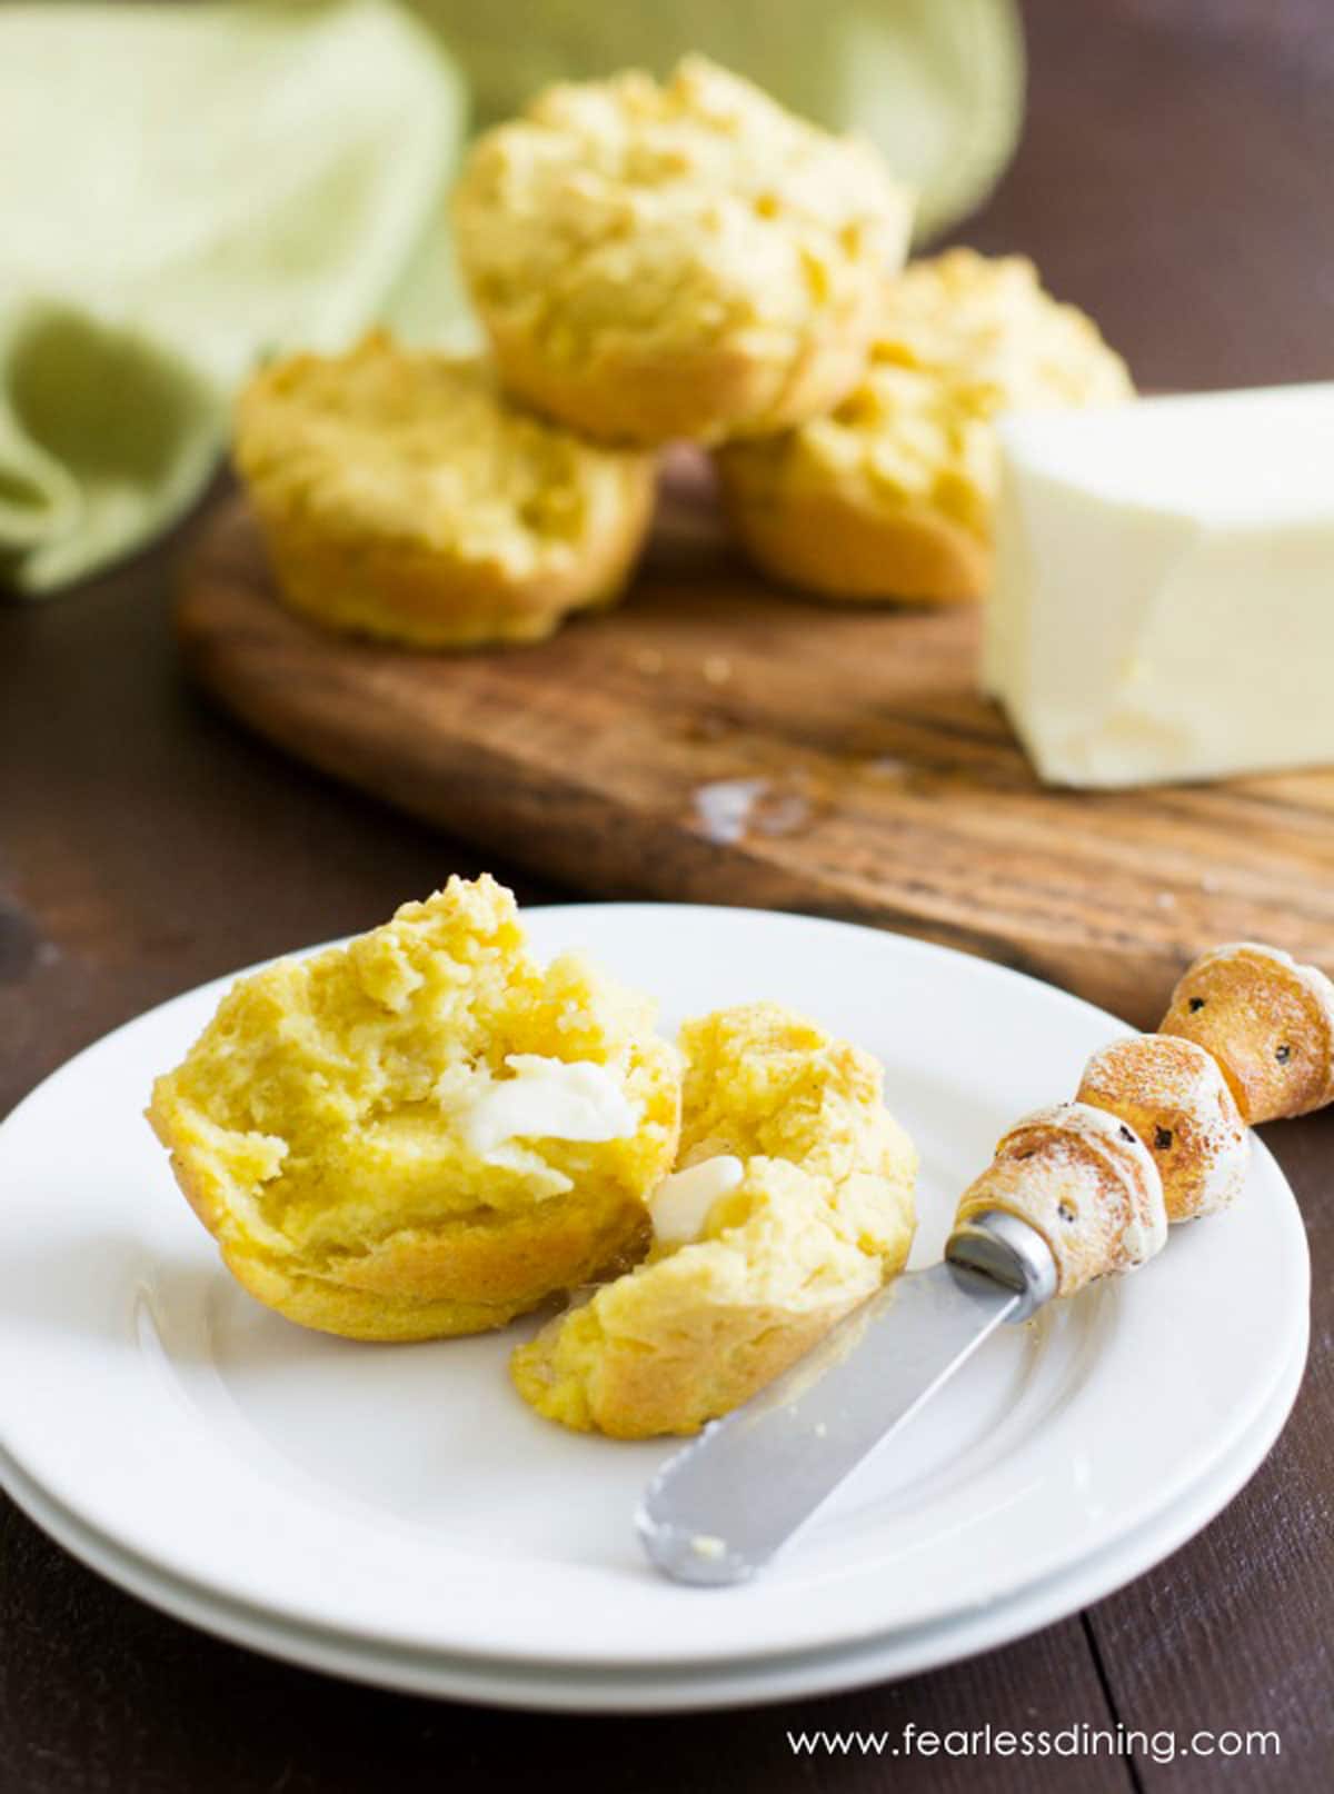
M 1018 1121 L 959 1202 L 957 1220 L 1005 1209 L 1056 1259 L 1058 1295 L 1135 1270 L 1167 1243 L 1153 1154 L 1124 1121 L 1090 1103 L 1056 1103 Z

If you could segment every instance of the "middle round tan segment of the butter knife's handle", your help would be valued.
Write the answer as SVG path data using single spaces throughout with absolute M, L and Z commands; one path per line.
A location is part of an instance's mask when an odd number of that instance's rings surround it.
M 1194 1041 L 1113 1041 L 1084 1066 L 1075 1098 L 1135 1128 L 1158 1164 L 1169 1222 L 1214 1215 L 1241 1195 L 1251 1137 L 1217 1060 Z

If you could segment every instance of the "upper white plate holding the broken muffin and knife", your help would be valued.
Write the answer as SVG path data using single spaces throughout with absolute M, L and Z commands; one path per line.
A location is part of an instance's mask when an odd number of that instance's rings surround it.
M 917 1263 L 1002 1127 L 1124 1032 L 1000 967 L 804 917 L 594 906 L 530 929 L 664 992 L 668 1023 L 779 997 L 874 1049 L 923 1152 Z M 201 1598 L 533 1672 L 847 1650 L 1167 1528 L 1302 1349 L 1305 1238 L 1259 1148 L 1232 1213 L 995 1340 L 763 1579 L 675 1588 L 630 1530 L 670 1448 L 531 1415 L 505 1376 L 522 1329 L 354 1346 L 219 1268 L 140 1110 L 221 988 L 110 1035 L 0 1128 L 0 1446 L 52 1509 Z

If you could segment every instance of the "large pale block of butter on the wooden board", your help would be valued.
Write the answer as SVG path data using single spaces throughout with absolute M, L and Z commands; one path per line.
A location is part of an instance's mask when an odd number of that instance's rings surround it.
M 982 685 L 1045 780 L 1334 764 L 1334 384 L 998 438 Z

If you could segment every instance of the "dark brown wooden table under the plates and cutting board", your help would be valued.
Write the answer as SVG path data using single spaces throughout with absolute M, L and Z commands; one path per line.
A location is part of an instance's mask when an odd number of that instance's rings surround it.
M 1332 377 L 1329 0 L 1029 0 L 1027 14 L 1029 131 L 968 239 L 1034 253 L 1145 386 Z M 282 761 L 183 689 L 167 630 L 178 547 L 57 603 L 0 612 L 0 1112 L 138 1010 L 479 870 L 467 845 Z M 512 883 L 526 901 L 569 895 Z M 1314 1259 L 1295 1417 L 1212 1527 L 1092 1611 L 971 1663 L 828 1701 L 689 1719 L 519 1717 L 343 1686 L 215 1643 L 99 1582 L 0 1503 L 0 1794 L 436 1794 L 533 1787 L 575 1765 L 587 1787 L 621 1794 L 1325 1794 L 1334 1114 L 1268 1137 Z M 1282 1755 L 1171 1767 L 1151 1753 L 810 1762 L 786 1744 L 788 1728 L 908 1720 L 1277 1729 Z

